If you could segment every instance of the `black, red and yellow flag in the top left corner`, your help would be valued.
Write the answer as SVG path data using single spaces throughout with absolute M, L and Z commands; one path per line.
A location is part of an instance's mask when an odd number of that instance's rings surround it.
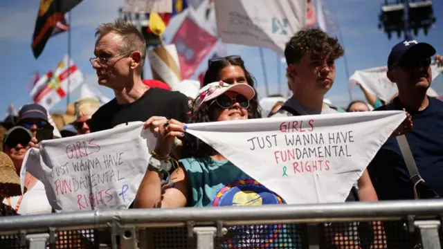
M 57 24 L 64 21 L 64 14 L 69 12 L 82 0 L 40 0 L 35 30 L 33 35 L 33 53 L 37 59 L 42 53 L 49 37 L 53 35 Z

